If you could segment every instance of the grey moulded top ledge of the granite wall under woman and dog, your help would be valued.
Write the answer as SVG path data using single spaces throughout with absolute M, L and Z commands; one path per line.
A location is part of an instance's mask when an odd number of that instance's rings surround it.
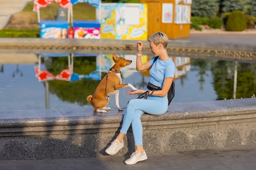
M 171 104 L 167 113 L 159 116 L 144 114 L 141 121 L 144 126 L 177 126 L 180 124 L 181 127 L 184 127 L 184 124 L 203 122 L 204 124 L 216 124 L 217 121 L 218 123 L 220 121 L 222 123 L 239 122 L 242 119 L 256 118 L 256 104 L 254 106 L 253 101 L 256 99 Z M 77 131 L 76 133 L 81 133 L 79 129 L 86 128 L 93 131 L 93 129 L 99 128 L 119 128 L 124 113 L 125 110 L 123 112 L 110 110 L 107 113 L 93 113 L 93 109 L 0 111 L 0 136 L 8 136 L 11 133 L 38 135 L 38 133 L 45 132 L 49 134 L 49 131 L 55 134 L 69 134 L 67 131 L 74 129 Z M 52 128 L 47 129 L 46 132 L 45 127 Z

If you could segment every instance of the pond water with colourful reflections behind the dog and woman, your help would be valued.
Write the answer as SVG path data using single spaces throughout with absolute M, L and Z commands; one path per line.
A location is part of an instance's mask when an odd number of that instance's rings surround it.
M 122 71 L 123 83 L 146 88 L 148 71 L 136 71 L 135 55 L 118 56 L 133 61 Z M 150 57 L 143 56 L 143 61 Z M 0 63 L 0 110 L 92 108 L 86 98 L 93 95 L 112 64 L 112 55 L 41 54 L 36 58 L 38 61 L 34 63 Z M 171 58 L 177 68 L 171 104 L 249 98 L 256 94 L 255 62 Z M 130 88 L 120 90 L 121 107 L 137 97 L 127 95 L 128 90 Z M 114 96 L 110 97 L 110 104 L 115 105 Z

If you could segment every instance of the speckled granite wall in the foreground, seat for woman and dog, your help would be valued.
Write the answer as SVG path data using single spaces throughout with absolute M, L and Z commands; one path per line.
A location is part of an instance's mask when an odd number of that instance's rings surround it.
M 92 109 L 0 111 L 0 160 L 106 156 L 123 112 Z M 256 143 L 256 98 L 170 104 L 141 117 L 147 153 L 204 150 Z M 117 155 L 134 152 L 132 131 Z

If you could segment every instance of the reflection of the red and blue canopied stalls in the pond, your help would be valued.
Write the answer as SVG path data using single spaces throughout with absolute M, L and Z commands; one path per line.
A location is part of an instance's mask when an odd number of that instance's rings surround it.
M 101 73 L 99 71 L 93 71 L 92 73 L 88 75 L 81 75 L 73 72 L 74 68 L 74 57 L 79 56 L 92 56 L 92 54 L 67 54 L 67 53 L 41 53 L 38 56 L 38 66 L 35 66 L 35 72 L 36 72 L 36 78 L 38 81 L 48 81 L 48 80 L 66 80 L 66 81 L 76 81 L 79 79 L 94 79 L 94 80 L 100 80 L 101 79 Z M 93 55 L 94 56 L 94 55 Z M 59 73 L 58 75 L 53 75 L 47 70 L 41 69 L 41 57 L 68 57 L 68 68 L 64 69 Z

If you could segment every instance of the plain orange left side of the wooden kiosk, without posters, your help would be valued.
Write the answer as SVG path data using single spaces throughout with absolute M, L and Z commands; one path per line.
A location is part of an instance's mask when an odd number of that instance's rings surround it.
M 141 0 L 148 5 L 148 37 L 153 33 L 161 31 L 161 0 Z

